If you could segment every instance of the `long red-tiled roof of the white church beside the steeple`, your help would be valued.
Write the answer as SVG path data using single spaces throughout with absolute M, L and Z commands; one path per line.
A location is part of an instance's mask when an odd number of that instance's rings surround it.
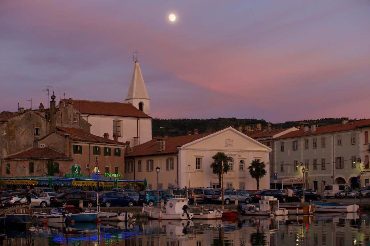
M 66 103 L 70 100 L 64 99 Z M 73 108 L 81 114 L 151 118 L 131 103 L 73 100 Z

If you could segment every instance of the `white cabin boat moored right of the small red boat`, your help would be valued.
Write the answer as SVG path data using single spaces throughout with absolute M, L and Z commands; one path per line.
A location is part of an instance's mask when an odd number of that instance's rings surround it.
M 279 200 L 270 196 L 262 196 L 259 206 L 240 203 L 238 210 L 242 215 L 282 216 L 288 215 L 289 210 L 279 208 Z

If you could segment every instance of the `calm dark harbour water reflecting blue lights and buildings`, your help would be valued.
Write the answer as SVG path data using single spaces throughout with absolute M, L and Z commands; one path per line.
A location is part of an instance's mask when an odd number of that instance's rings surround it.
M 137 221 L 108 224 L 35 224 L 0 229 L 0 245 L 264 246 L 367 245 L 370 216 L 316 214 L 242 216 L 238 221 Z

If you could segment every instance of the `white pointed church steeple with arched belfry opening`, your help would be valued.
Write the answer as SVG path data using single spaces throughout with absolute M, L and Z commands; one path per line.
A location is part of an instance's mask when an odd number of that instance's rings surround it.
M 147 89 L 145 88 L 145 83 L 144 79 L 142 78 L 138 59 L 136 59 L 135 61 L 134 72 L 132 73 L 131 82 L 125 101 L 127 103 L 131 103 L 136 108 L 143 111 L 145 114 L 150 115 L 150 99 Z

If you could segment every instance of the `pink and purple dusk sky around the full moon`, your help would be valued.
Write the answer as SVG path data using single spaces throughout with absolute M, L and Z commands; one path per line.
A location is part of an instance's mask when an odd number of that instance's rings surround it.
M 137 51 L 153 118 L 370 118 L 369 13 L 368 0 L 1 0 L 0 112 L 48 107 L 53 86 L 57 101 L 124 102 Z

